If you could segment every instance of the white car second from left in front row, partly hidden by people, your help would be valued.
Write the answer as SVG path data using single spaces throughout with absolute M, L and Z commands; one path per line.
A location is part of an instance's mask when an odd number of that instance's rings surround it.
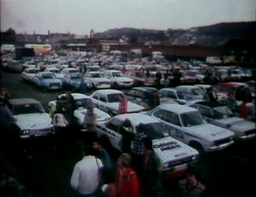
M 87 105 L 93 105 L 92 99 L 84 94 L 81 93 L 72 93 L 71 94 L 74 97 L 74 100 L 76 102 L 77 109 L 74 111 L 74 116 L 76 118 L 76 121 L 78 124 L 82 125 L 84 115 L 87 112 Z M 58 96 L 58 98 L 61 98 L 62 96 L 65 96 L 65 94 L 61 94 Z M 56 104 L 56 101 L 50 101 L 48 104 L 49 109 L 51 109 Z M 106 121 L 110 118 L 109 114 L 94 108 L 94 113 L 97 115 L 97 121 Z

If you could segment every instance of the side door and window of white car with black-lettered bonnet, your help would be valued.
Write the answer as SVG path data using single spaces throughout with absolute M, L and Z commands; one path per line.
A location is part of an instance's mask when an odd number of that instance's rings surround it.
M 111 119 L 109 120 L 109 122 L 107 122 L 105 124 L 106 127 L 106 134 L 109 136 L 109 140 L 111 145 L 117 149 L 121 151 L 121 147 L 120 147 L 120 140 L 121 140 L 121 135 L 120 135 L 120 125 L 121 125 L 121 121 L 118 119 Z

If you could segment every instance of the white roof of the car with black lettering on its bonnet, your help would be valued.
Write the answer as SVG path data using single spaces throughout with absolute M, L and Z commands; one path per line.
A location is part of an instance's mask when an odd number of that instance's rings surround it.
M 132 113 L 132 114 L 120 114 L 115 116 L 116 119 L 119 119 L 121 121 L 125 121 L 125 119 L 130 119 L 131 124 L 134 126 L 142 124 L 149 124 L 149 123 L 160 123 L 158 119 L 154 119 L 151 116 L 148 116 L 146 114 L 138 114 L 138 113 Z

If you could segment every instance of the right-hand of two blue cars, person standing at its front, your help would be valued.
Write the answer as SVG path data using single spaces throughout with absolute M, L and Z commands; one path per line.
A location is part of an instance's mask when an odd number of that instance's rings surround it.
M 77 89 L 81 89 L 83 87 L 88 90 L 93 87 L 93 83 L 85 78 L 83 78 L 84 84 L 82 82 L 82 75 L 80 73 L 74 74 L 66 74 L 63 78 L 61 78 L 63 82 L 63 88 L 71 88 L 73 91 Z

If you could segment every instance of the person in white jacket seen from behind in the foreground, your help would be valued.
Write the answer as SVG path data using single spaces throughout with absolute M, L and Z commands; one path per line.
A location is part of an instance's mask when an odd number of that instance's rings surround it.
M 92 155 L 92 145 L 84 144 L 82 146 L 83 158 L 76 163 L 71 176 L 71 187 L 79 197 L 96 197 L 98 192 L 98 171 L 103 164 L 100 159 Z

